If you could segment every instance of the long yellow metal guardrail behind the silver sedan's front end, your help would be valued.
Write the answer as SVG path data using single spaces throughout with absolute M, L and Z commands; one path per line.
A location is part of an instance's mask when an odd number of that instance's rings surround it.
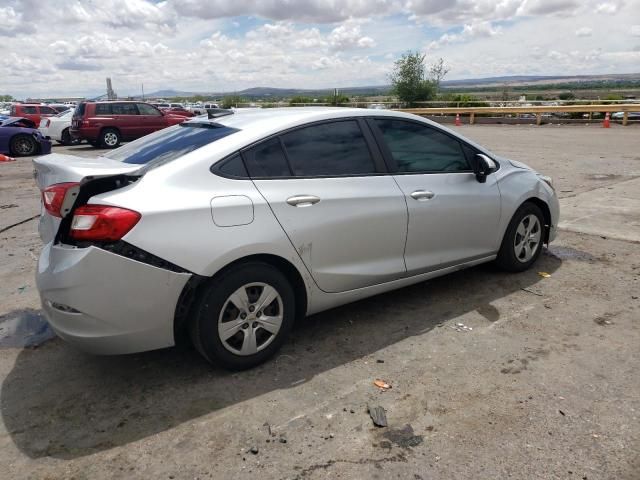
M 633 103 L 617 105 L 558 105 L 558 106 L 518 106 L 518 107 L 436 107 L 436 108 L 401 108 L 400 112 L 414 113 L 416 115 L 444 115 L 460 114 L 469 115 L 469 123 L 475 123 L 476 114 L 510 114 L 510 113 L 532 113 L 536 115 L 536 125 L 542 123 L 543 113 L 605 113 L 624 112 L 622 124 L 628 125 L 629 112 L 640 111 L 640 105 Z

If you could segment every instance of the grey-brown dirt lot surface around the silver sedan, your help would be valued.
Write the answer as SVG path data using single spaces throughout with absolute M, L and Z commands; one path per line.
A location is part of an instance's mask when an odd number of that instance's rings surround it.
M 39 201 L 29 161 L 0 164 L 2 478 L 639 479 L 640 127 L 461 130 L 556 180 L 567 216 L 536 267 L 313 316 L 244 373 L 186 347 L 12 346 L 47 335 Z

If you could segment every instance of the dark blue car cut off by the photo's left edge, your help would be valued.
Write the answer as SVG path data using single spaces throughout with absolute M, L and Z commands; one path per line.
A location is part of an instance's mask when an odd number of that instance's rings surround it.
M 9 117 L 0 120 L 0 153 L 14 157 L 51 153 L 51 140 L 31 120 Z

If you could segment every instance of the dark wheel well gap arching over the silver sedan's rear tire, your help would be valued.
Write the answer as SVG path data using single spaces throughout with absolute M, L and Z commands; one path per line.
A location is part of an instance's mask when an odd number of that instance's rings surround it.
M 259 254 L 250 255 L 248 257 L 240 258 L 226 265 L 216 272 L 212 277 L 206 277 L 202 275 L 193 275 L 182 289 L 182 293 L 178 298 L 176 310 L 173 320 L 173 334 L 176 342 L 179 338 L 182 338 L 185 327 L 188 324 L 189 318 L 191 318 L 191 308 L 195 303 L 195 299 L 198 297 L 200 287 L 208 280 L 217 277 L 224 271 L 236 265 L 247 263 L 251 261 L 259 261 L 268 263 L 280 270 L 291 282 L 293 293 L 296 301 L 296 317 L 302 318 L 307 313 L 307 289 L 305 287 L 304 280 L 300 275 L 298 269 L 288 260 L 277 255 Z

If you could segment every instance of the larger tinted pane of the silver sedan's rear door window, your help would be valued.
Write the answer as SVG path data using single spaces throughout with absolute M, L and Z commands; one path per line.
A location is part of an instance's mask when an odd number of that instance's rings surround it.
M 296 176 L 376 173 L 371 152 L 355 120 L 300 128 L 282 135 L 282 142 Z

